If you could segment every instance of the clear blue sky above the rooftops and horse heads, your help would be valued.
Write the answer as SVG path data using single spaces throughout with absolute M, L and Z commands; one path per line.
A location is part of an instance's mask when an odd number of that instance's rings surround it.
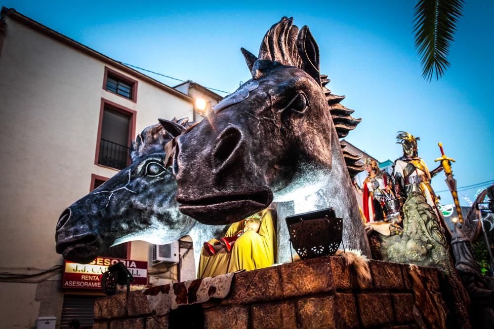
M 419 155 L 431 169 L 440 155 L 437 143 L 444 144 L 457 161 L 458 186 L 494 180 L 493 1 L 466 1 L 451 67 L 432 82 L 422 79 L 413 47 L 415 1 L 166 2 L 4 0 L 0 5 L 116 60 L 226 91 L 250 78 L 240 47 L 257 54 L 271 25 L 293 16 L 319 43 L 321 72 L 331 79 L 327 87 L 346 95 L 343 104 L 363 119 L 349 142 L 381 161 L 394 160 L 402 152 L 396 132 L 408 131 L 420 137 Z M 433 187 L 447 189 L 442 174 Z M 473 201 L 476 191 L 459 195 Z M 451 203 L 449 192 L 439 194 Z

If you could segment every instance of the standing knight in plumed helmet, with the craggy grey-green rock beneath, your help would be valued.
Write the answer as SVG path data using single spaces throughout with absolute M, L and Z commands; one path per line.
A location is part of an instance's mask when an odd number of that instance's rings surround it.
M 430 179 L 440 169 L 429 171 L 417 156 L 417 141 L 418 138 L 406 132 L 397 136 L 403 156 L 395 161 L 393 176 L 395 195 L 402 209 L 403 232 L 378 235 L 380 258 L 437 267 L 451 274 L 454 271 L 449 249 L 451 233 L 437 211 L 437 198 L 430 186 Z

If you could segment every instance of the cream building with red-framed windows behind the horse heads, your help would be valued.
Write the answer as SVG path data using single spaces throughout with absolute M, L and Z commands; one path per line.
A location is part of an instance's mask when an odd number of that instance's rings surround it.
M 2 328 L 33 328 L 43 316 L 56 317 L 59 328 L 69 317 L 90 317 L 82 311 L 101 291 L 62 288 L 60 214 L 129 164 L 136 133 L 159 117 L 193 118 L 194 110 L 187 93 L 2 8 Z M 143 241 L 101 256 L 147 262 L 147 283 L 160 285 L 195 275 L 190 239 L 179 247 L 175 265 L 153 263 Z

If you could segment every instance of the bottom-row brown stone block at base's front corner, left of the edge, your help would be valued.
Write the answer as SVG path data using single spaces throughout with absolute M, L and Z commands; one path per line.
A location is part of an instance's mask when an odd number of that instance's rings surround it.
M 335 328 L 334 296 L 299 299 L 297 319 L 297 328 Z

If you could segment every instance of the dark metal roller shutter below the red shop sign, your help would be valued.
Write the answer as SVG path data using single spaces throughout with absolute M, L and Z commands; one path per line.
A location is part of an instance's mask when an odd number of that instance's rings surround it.
M 60 328 L 67 328 L 72 319 L 79 320 L 82 328 L 91 328 L 94 323 L 94 301 L 96 298 L 99 297 L 64 295 Z

